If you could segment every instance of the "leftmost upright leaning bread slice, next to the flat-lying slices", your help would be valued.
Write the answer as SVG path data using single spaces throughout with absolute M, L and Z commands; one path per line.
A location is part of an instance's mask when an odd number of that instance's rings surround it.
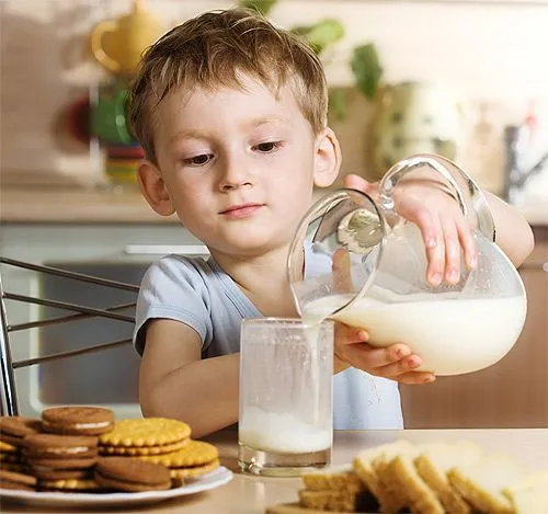
M 390 509 L 392 509 L 393 502 L 390 492 L 386 491 L 380 482 L 379 470 L 387 466 L 399 453 L 411 447 L 413 445 L 409 441 L 398 439 L 393 443 L 363 449 L 358 452 L 353 460 L 354 471 L 377 499 L 383 512 L 391 512 Z

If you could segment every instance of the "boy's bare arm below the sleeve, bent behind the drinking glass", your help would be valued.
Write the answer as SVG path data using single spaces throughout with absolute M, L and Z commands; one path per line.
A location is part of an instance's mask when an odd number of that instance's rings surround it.
M 144 415 L 189 423 L 198 438 L 238 421 L 240 354 L 201 358 L 191 327 L 151 320 L 139 372 Z

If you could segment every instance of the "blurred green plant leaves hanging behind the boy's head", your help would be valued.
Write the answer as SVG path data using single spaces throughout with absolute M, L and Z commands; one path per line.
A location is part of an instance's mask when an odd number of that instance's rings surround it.
M 240 0 L 238 2 L 240 7 L 255 10 L 265 16 L 276 3 L 277 0 Z M 344 26 L 334 18 L 327 18 L 309 25 L 294 26 L 289 30 L 305 37 L 319 56 L 344 37 Z M 384 71 L 375 45 L 366 43 L 356 46 L 352 50 L 350 67 L 354 76 L 355 88 L 373 102 Z M 329 107 L 339 119 L 344 119 L 346 116 L 346 94 L 343 89 L 330 89 Z

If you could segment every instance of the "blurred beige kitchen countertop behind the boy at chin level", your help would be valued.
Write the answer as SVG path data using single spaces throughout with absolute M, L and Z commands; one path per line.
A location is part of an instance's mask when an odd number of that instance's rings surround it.
M 328 190 L 317 190 L 315 198 Z M 530 225 L 548 226 L 548 203 L 518 207 Z M 156 214 L 137 187 L 122 192 L 92 187 L 4 187 L 0 190 L 2 222 L 175 224 Z

